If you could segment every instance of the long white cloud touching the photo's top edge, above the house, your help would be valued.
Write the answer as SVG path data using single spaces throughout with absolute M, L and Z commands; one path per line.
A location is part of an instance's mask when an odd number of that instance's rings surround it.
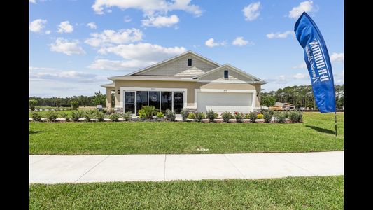
M 202 15 L 202 10 L 199 6 L 190 4 L 191 0 L 96 0 L 92 5 L 92 8 L 97 14 L 104 14 L 104 8 L 118 7 L 121 10 L 128 8 L 135 8 L 142 10 L 143 13 L 163 13 L 166 14 L 171 10 L 183 10 L 188 13 L 192 13 L 195 16 Z

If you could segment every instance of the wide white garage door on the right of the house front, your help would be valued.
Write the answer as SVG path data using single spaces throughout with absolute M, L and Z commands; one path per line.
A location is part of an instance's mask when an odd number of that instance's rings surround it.
M 217 113 L 252 111 L 253 93 L 247 92 L 197 92 L 197 111 L 212 109 Z

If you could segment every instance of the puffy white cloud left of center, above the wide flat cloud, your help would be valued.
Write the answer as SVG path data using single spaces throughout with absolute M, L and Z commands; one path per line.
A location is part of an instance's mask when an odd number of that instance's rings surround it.
M 94 46 L 106 46 L 113 44 L 131 43 L 136 41 L 141 41 L 143 38 L 143 33 L 139 29 L 122 29 L 117 31 L 105 30 L 101 34 L 94 33 L 90 34 L 92 38 L 85 40 L 85 43 Z

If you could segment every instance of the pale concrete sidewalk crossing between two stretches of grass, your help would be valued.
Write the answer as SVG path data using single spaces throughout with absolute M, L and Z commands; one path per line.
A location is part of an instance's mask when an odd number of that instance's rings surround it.
M 344 152 L 29 155 L 29 183 L 262 179 L 344 174 Z

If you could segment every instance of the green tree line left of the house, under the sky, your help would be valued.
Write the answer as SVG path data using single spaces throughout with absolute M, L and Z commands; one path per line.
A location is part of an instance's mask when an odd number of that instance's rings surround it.
M 71 102 L 78 102 L 78 106 L 97 106 L 101 104 L 103 107 L 106 106 L 106 94 L 94 92 L 93 96 L 73 96 L 73 97 L 52 97 L 52 98 L 41 98 L 41 97 L 29 97 L 29 99 L 35 99 L 37 101 L 36 106 L 57 106 L 57 107 L 71 107 Z

